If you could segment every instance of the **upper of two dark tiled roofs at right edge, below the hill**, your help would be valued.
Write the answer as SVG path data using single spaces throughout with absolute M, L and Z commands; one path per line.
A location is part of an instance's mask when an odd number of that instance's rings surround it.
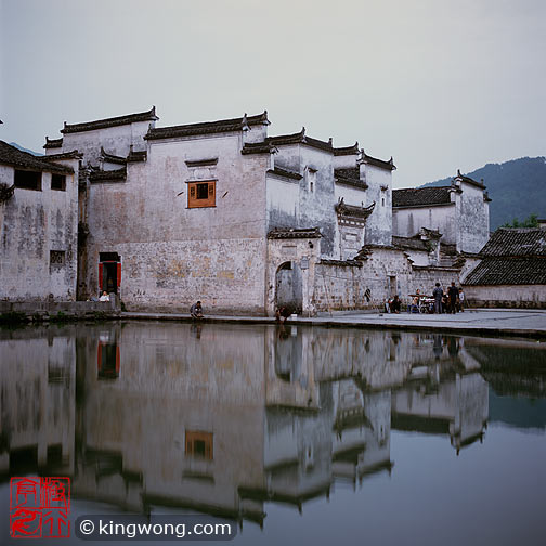
M 482 248 L 482 256 L 546 256 L 546 230 L 499 227 Z

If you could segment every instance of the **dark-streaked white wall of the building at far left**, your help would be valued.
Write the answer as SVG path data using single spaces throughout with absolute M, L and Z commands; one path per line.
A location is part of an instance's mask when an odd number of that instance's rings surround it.
M 77 169 L 77 161 L 65 161 Z M 12 185 L 14 169 L 0 166 L 0 182 Z M 66 191 L 51 190 L 42 172 L 41 191 L 15 188 L 0 204 L 0 298 L 12 301 L 76 299 L 78 242 L 77 174 Z M 64 250 L 65 263 L 50 269 L 50 250 Z

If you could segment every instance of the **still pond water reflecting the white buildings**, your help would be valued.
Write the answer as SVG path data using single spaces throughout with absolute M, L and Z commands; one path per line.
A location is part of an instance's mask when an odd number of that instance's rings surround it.
M 69 477 L 73 525 L 206 514 L 237 545 L 546 542 L 544 342 L 51 325 L 0 330 L 0 385 L 2 543 L 21 476 Z

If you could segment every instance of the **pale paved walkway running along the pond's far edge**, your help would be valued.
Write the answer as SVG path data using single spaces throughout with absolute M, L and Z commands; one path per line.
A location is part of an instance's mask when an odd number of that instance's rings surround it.
M 190 322 L 190 314 L 169 313 L 121 313 L 121 318 L 152 321 Z M 216 323 L 274 324 L 275 320 L 260 316 L 219 316 L 207 315 L 204 321 Z M 512 309 L 476 309 L 457 314 L 389 314 L 339 312 L 315 317 L 290 317 L 286 324 L 391 328 L 404 330 L 441 330 L 453 334 L 474 334 L 484 336 L 524 336 L 546 338 L 546 311 Z

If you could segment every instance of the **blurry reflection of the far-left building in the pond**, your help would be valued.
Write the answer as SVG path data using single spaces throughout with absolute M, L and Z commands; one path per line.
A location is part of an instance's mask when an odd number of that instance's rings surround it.
M 1 473 L 73 472 L 75 356 L 53 326 L 0 333 Z

